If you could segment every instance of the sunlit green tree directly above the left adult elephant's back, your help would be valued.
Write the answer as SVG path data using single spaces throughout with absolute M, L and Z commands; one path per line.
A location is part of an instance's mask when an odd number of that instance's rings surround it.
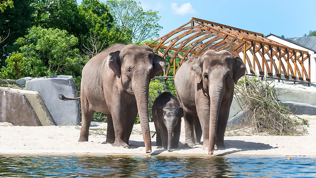
M 78 6 L 81 22 L 82 51 L 90 58 L 116 42 L 130 43 L 131 39 L 113 27 L 109 8 L 99 0 L 83 0 Z

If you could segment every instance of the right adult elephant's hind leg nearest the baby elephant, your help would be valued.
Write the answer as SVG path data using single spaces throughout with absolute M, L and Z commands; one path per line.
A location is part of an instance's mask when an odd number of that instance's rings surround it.
M 195 146 L 194 117 L 191 115 L 187 115 L 184 112 L 183 119 L 185 124 L 185 145 L 188 145 L 190 147 Z

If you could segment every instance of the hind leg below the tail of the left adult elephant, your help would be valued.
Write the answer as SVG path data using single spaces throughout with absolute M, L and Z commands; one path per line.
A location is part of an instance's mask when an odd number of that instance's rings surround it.
M 82 125 L 78 142 L 88 142 L 89 127 L 92 121 L 94 111 L 89 109 L 89 101 L 85 96 L 84 92 L 81 92 L 81 114 Z

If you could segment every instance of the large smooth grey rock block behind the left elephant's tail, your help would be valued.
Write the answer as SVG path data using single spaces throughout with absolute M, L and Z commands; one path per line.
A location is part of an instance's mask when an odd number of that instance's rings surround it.
M 52 120 L 57 125 L 80 124 L 79 101 L 63 101 L 58 98 L 58 94 L 70 98 L 77 97 L 77 89 L 72 76 L 59 75 L 27 80 L 26 89 L 39 92 Z

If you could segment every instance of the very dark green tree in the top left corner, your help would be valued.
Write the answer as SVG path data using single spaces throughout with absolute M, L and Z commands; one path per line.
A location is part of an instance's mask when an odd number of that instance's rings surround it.
M 5 60 L 16 50 L 13 43 L 27 33 L 33 22 L 34 9 L 29 0 L 14 0 L 14 7 L 7 8 L 0 14 L 0 68 Z M 5 40 L 3 40 L 5 38 Z

